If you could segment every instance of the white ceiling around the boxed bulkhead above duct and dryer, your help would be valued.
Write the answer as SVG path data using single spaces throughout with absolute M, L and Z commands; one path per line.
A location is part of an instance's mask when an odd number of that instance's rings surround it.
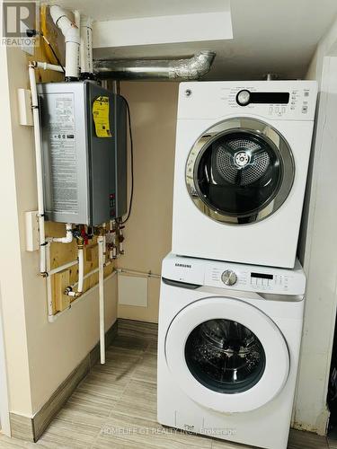
M 166 14 L 210 13 L 220 0 L 58 0 L 98 21 Z M 217 52 L 206 79 L 261 79 L 266 73 L 301 78 L 318 41 L 337 15 L 336 0 L 232 0 L 233 40 L 94 48 L 96 58 L 181 57 L 201 49 Z M 212 26 L 205 23 L 205 26 Z

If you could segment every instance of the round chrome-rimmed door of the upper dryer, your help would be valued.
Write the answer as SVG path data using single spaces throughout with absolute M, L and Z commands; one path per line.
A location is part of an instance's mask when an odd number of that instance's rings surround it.
M 206 216 L 247 225 L 273 214 L 292 188 L 295 164 L 286 139 L 257 119 L 227 119 L 192 146 L 186 185 Z

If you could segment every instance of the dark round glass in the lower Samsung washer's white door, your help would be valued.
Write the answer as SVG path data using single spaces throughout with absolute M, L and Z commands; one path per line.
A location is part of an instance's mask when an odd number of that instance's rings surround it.
M 205 321 L 192 330 L 185 358 L 200 383 L 222 393 L 251 389 L 260 381 L 266 361 L 252 330 L 231 320 Z

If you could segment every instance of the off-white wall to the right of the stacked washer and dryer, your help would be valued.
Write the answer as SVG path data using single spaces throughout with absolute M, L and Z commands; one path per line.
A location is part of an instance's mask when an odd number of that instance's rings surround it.
M 307 275 L 306 312 L 294 426 L 324 435 L 337 304 L 337 21 L 319 43 L 307 78 L 319 101 L 299 254 Z

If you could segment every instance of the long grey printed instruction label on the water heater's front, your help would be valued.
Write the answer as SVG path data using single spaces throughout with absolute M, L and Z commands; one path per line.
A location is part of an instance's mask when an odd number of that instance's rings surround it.
M 55 212 L 78 213 L 75 115 L 72 93 L 55 95 L 50 116 L 50 187 Z

